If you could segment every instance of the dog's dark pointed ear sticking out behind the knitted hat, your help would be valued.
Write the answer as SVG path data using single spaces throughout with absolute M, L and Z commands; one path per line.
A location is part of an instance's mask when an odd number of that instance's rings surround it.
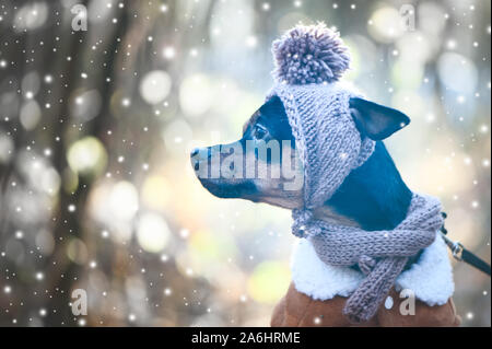
M 403 113 L 362 98 L 350 98 L 350 112 L 359 131 L 373 140 L 388 138 L 410 124 Z

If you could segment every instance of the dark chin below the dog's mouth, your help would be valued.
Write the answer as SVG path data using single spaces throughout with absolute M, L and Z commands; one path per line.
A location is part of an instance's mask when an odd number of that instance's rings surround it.
M 230 183 L 224 179 L 198 179 L 210 194 L 221 199 L 250 199 L 257 190 L 255 184 L 250 181 L 234 181 Z

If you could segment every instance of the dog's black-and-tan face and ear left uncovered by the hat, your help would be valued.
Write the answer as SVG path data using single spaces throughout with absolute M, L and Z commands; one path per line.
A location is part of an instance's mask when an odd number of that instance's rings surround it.
M 362 98 L 352 98 L 350 110 L 361 137 L 376 141 L 410 121 L 398 110 Z M 303 206 L 303 166 L 278 96 L 253 114 L 238 141 L 194 149 L 191 165 L 201 184 L 216 197 L 242 198 L 288 209 Z

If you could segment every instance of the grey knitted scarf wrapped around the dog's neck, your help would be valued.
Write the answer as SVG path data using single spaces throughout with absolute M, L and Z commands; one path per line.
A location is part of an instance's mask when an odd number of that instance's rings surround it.
M 443 224 L 440 201 L 417 194 L 407 218 L 390 231 L 330 224 L 313 219 L 306 210 L 294 210 L 293 218 L 294 234 L 307 237 L 323 261 L 333 266 L 359 265 L 366 275 L 343 309 L 354 323 L 376 314 L 408 257 L 432 244 Z

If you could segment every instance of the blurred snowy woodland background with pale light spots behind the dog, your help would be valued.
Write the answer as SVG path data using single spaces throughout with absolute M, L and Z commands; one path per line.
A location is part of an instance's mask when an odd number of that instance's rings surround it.
M 72 31 L 77 3 L 86 32 Z M 347 79 L 412 118 L 387 141 L 403 178 L 490 261 L 490 11 L 0 0 L 0 325 L 269 324 L 290 281 L 290 212 L 212 197 L 188 153 L 239 137 L 271 84 L 271 40 L 298 22 L 337 27 Z M 464 325 L 490 326 L 490 278 L 455 270 Z M 72 315 L 74 289 L 87 316 Z

